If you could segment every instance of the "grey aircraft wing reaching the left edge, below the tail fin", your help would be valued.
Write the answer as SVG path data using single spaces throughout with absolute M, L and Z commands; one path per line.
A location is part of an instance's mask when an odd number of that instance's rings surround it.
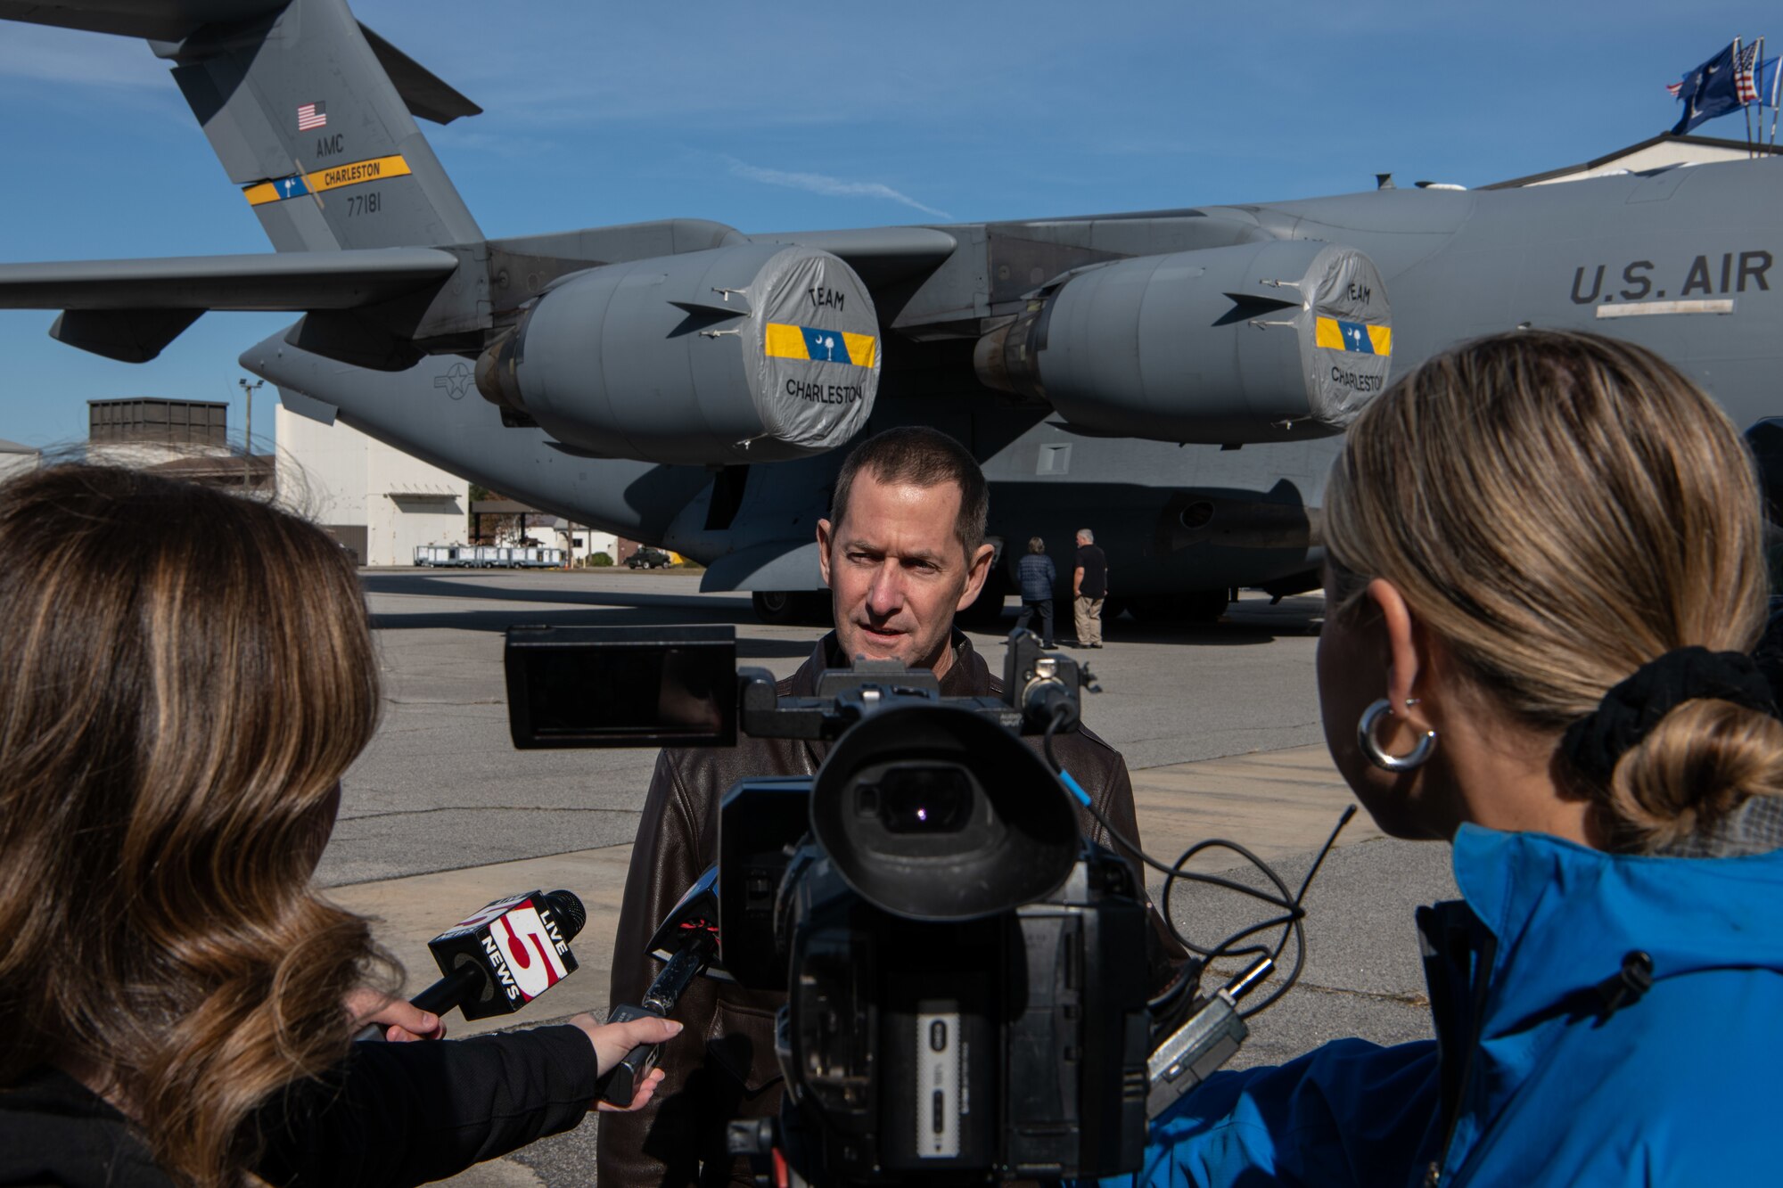
M 0 309 L 357 309 L 456 268 L 435 248 L 0 264 Z

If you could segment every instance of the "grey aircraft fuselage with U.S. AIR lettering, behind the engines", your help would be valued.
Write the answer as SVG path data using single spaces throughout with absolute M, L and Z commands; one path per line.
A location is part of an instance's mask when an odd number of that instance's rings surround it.
M 1783 412 L 1783 162 L 1749 161 L 1521 189 L 1401 189 L 1243 207 L 954 225 L 925 273 L 875 284 L 884 371 L 867 432 L 954 433 L 991 482 L 991 533 L 1064 551 L 1093 528 L 1122 594 L 1291 582 L 1319 564 L 1318 508 L 1341 437 L 1177 444 L 1073 428 L 984 387 L 972 344 L 1073 268 L 1134 255 L 1311 239 L 1364 252 L 1393 303 L 1393 375 L 1516 326 L 1642 342 L 1749 426 Z M 756 235 L 822 241 L 822 235 Z M 868 280 L 872 275 L 868 273 Z M 342 369 L 278 339 L 242 362 L 476 482 L 711 565 L 710 589 L 813 589 L 811 540 L 840 451 L 719 469 L 576 457 L 505 428 L 428 359 Z M 458 385 L 465 387 L 465 385 Z M 1011 555 L 1013 564 L 1013 555 Z

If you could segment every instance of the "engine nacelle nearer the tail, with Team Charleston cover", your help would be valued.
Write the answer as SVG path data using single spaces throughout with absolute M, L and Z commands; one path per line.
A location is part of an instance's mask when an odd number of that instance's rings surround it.
M 879 348 L 843 260 L 738 244 L 562 278 L 483 351 L 476 385 L 592 455 L 779 462 L 867 423 Z

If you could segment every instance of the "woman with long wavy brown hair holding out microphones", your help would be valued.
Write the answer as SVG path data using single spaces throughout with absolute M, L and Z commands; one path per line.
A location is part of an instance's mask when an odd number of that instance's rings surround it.
M 310 887 L 376 722 L 319 528 L 125 469 L 0 487 L 0 1183 L 437 1179 L 574 1126 L 676 1031 L 349 1042 L 437 1027 Z

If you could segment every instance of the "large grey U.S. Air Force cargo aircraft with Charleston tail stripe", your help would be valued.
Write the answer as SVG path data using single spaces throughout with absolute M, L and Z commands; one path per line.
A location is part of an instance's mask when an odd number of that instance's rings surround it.
M 241 357 L 292 412 L 672 548 L 765 617 L 817 601 L 838 448 L 890 425 L 974 450 L 993 537 L 1093 526 L 1136 612 L 1207 619 L 1230 587 L 1318 585 L 1339 433 L 1450 342 L 1599 330 L 1680 364 L 1742 426 L 1783 403 L 1772 159 L 1011 223 L 485 239 L 415 125 L 480 109 L 344 0 L 0 0 L 0 18 L 146 37 L 276 250 L 0 266 L 0 307 L 64 310 L 53 337 L 127 362 L 205 310 L 298 312 Z

